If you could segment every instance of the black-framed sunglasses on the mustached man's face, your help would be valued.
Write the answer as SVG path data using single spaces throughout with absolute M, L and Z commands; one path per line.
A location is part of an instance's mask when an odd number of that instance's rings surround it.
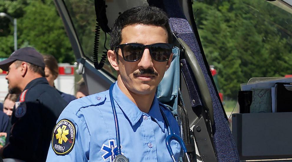
M 163 62 L 167 61 L 172 52 L 172 44 L 168 43 L 154 43 L 149 45 L 139 43 L 126 43 L 120 44 L 114 48 L 114 51 L 118 53 L 117 49 L 121 49 L 123 59 L 125 61 L 134 62 L 141 59 L 144 49 L 148 48 L 151 58 L 155 61 Z

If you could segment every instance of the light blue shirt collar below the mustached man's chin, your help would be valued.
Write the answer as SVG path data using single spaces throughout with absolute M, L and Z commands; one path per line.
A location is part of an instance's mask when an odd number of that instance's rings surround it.
M 140 120 L 142 116 L 142 111 L 121 91 L 121 89 L 118 87 L 117 82 L 113 86 L 113 98 L 119 105 L 119 107 L 122 109 L 123 113 L 128 117 L 132 126 L 135 125 Z M 156 123 L 164 132 L 164 119 L 161 115 L 156 95 L 154 96 L 148 114 L 156 121 Z

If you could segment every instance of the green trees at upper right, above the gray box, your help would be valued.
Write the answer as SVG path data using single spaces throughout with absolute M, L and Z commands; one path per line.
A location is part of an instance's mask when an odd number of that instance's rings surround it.
M 194 16 L 224 96 L 237 98 L 251 77 L 291 73 L 291 14 L 261 0 L 195 1 Z

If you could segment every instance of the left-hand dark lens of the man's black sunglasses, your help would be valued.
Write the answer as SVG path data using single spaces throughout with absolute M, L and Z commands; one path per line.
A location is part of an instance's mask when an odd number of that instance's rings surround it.
M 139 44 L 126 44 L 123 48 L 124 59 L 126 61 L 136 61 L 141 57 L 143 46 Z

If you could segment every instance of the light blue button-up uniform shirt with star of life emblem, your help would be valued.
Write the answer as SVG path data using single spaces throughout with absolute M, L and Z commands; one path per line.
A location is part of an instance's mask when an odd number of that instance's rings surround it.
M 142 112 L 120 90 L 117 82 L 113 87 L 113 98 L 118 116 L 122 154 L 130 162 L 172 161 L 166 148 L 165 139 L 168 132 L 160 108 L 174 133 L 179 135 L 179 126 L 170 110 L 159 103 L 155 96 L 149 113 Z M 63 110 L 57 123 L 62 119 L 68 119 L 75 125 L 74 145 L 66 155 L 57 155 L 51 144 L 47 161 L 102 162 L 112 161 L 116 156 L 116 131 L 109 90 L 73 100 Z M 70 133 L 66 137 L 69 138 L 66 143 L 72 143 Z M 52 138 L 56 138 L 55 134 Z M 62 142 L 64 144 L 65 141 Z M 171 148 L 177 161 L 181 146 L 172 140 Z

